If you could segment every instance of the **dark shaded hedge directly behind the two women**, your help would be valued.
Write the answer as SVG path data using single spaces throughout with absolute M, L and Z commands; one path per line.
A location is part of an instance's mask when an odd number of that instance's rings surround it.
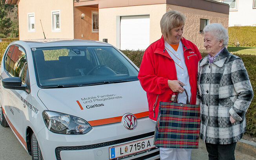
M 136 64 L 136 66 L 140 67 L 144 51 L 142 51 L 142 50 L 139 50 L 139 51 L 122 50 L 122 52 L 129 59 L 131 59 L 133 61 L 133 63 Z M 202 55 L 202 57 L 205 57 L 207 55 L 207 53 L 201 52 L 201 55 Z M 255 55 L 241 55 L 241 54 L 240 55 L 235 54 L 235 55 L 239 56 L 243 60 L 243 63 L 248 72 L 249 78 L 251 80 L 254 95 L 256 95 L 255 94 L 255 92 L 256 92 L 256 74 L 255 74 L 256 56 Z M 246 121 L 247 121 L 246 133 L 256 137 L 256 96 L 253 97 L 251 105 L 246 112 Z

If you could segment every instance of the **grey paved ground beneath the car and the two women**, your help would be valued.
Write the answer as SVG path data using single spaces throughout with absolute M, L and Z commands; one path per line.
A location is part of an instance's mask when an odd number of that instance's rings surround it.
M 236 145 L 236 160 L 256 160 L 256 143 L 241 139 Z M 0 126 L 0 160 L 31 160 L 9 127 Z M 192 149 L 191 160 L 208 160 L 203 140 L 199 139 L 199 149 Z

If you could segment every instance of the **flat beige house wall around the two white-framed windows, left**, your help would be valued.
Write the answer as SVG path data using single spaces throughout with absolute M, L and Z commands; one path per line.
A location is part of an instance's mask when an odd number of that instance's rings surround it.
M 52 32 L 51 11 L 60 10 L 60 32 Z M 28 32 L 27 13 L 35 13 L 35 32 Z M 18 3 L 19 37 L 23 39 L 74 38 L 72 0 L 20 0 Z M 42 32 L 42 25 L 44 34 Z

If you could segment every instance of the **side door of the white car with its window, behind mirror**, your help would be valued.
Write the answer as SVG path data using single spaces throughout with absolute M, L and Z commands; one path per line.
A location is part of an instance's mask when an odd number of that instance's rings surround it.
M 28 73 L 27 73 L 27 58 L 25 50 L 21 46 L 15 45 L 11 59 L 9 61 L 9 67 L 7 74 L 9 77 L 19 77 L 22 80 L 22 84 L 27 83 L 29 85 Z M 24 127 L 27 119 L 27 106 L 26 98 L 29 92 L 23 90 L 6 89 L 8 92 L 8 118 L 13 126 L 16 135 L 24 137 L 26 135 Z

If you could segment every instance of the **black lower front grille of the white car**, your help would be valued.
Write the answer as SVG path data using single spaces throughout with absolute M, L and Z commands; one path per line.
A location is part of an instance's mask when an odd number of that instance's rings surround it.
M 101 147 L 105 147 L 105 146 L 112 146 L 112 145 L 119 144 L 119 143 L 129 142 L 129 141 L 132 141 L 132 140 L 142 139 L 142 138 L 149 137 L 149 136 L 152 136 L 152 135 L 154 135 L 154 132 L 149 132 L 149 133 L 145 133 L 145 134 L 142 134 L 142 135 L 136 135 L 136 136 L 128 137 L 128 138 L 124 138 L 124 139 L 118 139 L 118 140 L 113 140 L 113 141 L 110 141 L 110 142 L 103 142 L 103 143 L 91 144 L 91 145 L 86 145 L 86 146 L 57 147 L 55 149 L 55 155 L 56 155 L 57 160 L 61 160 L 60 151 L 101 148 Z M 152 155 L 152 156 L 154 156 L 154 155 Z M 147 158 L 149 158 L 149 157 L 147 157 Z

